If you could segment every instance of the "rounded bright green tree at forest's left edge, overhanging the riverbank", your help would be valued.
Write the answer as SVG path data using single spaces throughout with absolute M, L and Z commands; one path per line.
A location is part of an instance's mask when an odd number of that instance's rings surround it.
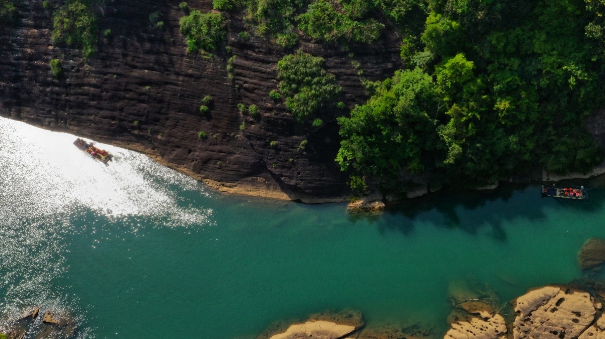
M 397 71 L 366 104 L 356 106 L 350 118 L 338 118 L 343 140 L 336 162 L 356 176 L 371 175 L 383 182 L 401 170 L 433 169 L 443 149 L 431 118 L 439 96 L 431 76 L 420 69 Z

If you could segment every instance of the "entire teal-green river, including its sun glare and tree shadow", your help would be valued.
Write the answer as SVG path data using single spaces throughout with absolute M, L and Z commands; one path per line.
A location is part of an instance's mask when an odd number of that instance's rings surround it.
M 0 118 L 0 308 L 72 312 L 80 338 L 253 338 L 343 308 L 440 337 L 451 285 L 506 302 L 581 278 L 581 245 L 605 237 L 599 180 L 589 201 L 508 186 L 355 218 L 345 204 L 215 194 L 110 145 L 104 166 L 73 140 Z

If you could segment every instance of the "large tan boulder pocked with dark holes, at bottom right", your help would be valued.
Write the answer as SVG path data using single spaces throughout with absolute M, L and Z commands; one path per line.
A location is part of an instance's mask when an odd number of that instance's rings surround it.
M 546 286 L 515 300 L 515 339 L 576 338 L 594 321 L 596 309 L 590 294 Z

